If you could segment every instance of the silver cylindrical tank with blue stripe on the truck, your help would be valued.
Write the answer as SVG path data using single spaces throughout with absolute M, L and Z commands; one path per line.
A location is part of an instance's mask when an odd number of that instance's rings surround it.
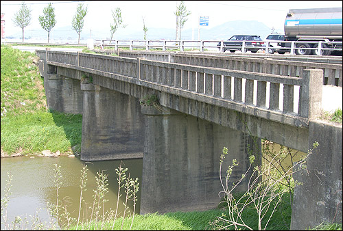
M 285 35 L 332 36 L 342 39 L 342 8 L 292 9 L 285 19 Z

